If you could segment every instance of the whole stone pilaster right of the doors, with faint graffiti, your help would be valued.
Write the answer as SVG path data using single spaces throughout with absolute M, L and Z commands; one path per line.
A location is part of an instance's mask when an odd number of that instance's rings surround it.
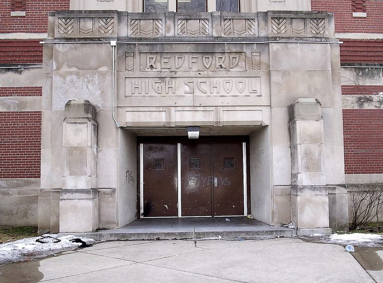
M 292 221 L 298 229 L 328 228 L 321 104 L 298 99 L 290 108 Z

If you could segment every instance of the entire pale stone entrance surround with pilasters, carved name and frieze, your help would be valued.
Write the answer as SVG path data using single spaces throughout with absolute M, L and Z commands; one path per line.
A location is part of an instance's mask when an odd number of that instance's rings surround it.
M 64 11 L 49 27 L 40 232 L 137 219 L 136 136 L 187 126 L 250 136 L 256 219 L 301 234 L 346 229 L 332 14 Z

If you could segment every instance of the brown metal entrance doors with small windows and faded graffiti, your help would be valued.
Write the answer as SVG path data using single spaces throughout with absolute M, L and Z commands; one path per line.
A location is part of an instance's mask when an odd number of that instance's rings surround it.
M 244 215 L 242 143 L 183 143 L 179 152 L 180 184 L 177 144 L 143 145 L 144 217 Z

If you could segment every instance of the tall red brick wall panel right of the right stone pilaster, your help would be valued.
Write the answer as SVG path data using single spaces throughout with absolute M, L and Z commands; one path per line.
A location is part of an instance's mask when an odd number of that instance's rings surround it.
M 383 174 L 383 110 L 343 109 L 346 174 Z

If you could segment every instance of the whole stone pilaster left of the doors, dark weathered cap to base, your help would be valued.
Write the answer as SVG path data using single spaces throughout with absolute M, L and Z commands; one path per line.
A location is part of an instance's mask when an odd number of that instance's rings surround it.
M 98 227 L 96 109 L 87 100 L 70 100 L 63 122 L 64 176 L 60 232 L 91 232 Z

